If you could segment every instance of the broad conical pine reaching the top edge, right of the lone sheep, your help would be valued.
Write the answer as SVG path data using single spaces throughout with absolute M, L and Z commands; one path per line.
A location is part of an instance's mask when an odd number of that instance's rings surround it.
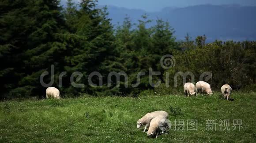
M 74 47 L 70 57 L 65 58 L 65 70 L 69 75 L 76 71 L 83 73 L 84 77 L 80 83 L 85 84 L 85 87 L 68 86 L 67 92 L 97 94 L 98 91 L 108 90 L 105 86 L 94 88 L 88 85 L 88 75 L 91 72 L 99 72 L 106 84 L 109 72 L 119 71 L 121 67 L 116 60 L 119 55 L 114 45 L 113 26 L 107 18 L 107 9 L 106 7 L 96 8 L 96 3 L 97 0 L 82 0 L 81 8 L 75 12 L 78 22 L 72 29 L 75 29 L 74 34 L 81 37 L 83 42 L 79 44 L 80 46 Z M 67 21 L 69 21 L 68 18 Z M 93 82 L 99 83 L 99 79 L 94 77 Z

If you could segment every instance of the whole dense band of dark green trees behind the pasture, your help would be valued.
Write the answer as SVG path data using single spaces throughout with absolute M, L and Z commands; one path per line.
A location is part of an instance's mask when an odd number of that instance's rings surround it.
M 189 33 L 180 41 L 168 21 L 158 19 L 156 25 L 147 26 L 152 22 L 147 15 L 136 25 L 127 16 L 114 29 L 108 14 L 107 7 L 97 7 L 97 0 L 81 0 L 79 4 L 68 0 L 66 7 L 60 6 L 59 0 L 1 0 L 0 100 L 45 98 L 46 87 L 40 77 L 44 72 L 52 73 L 52 67 L 54 76 L 46 75 L 44 82 L 53 81 L 51 86 L 60 89 L 63 96 L 181 93 L 182 76 L 177 78 L 177 87 L 173 84 L 177 72 L 192 73 L 195 81 L 187 76 L 187 82 L 199 81 L 204 72 L 211 73 L 207 82 L 218 91 L 223 84 L 234 90 L 255 90 L 256 41 L 216 39 L 207 43 L 207 36 L 192 39 Z M 173 64 L 170 68 L 161 65 L 165 55 L 173 57 L 166 61 Z M 151 78 L 147 76 L 150 71 L 161 74 Z M 82 88 L 73 86 L 70 79 L 74 72 L 83 74 L 73 81 L 83 84 Z M 90 77 L 93 72 L 102 76 Z M 109 79 L 111 72 L 125 72 L 128 80 L 124 76 Z M 133 87 L 139 72 L 145 75 Z M 102 82 L 102 86 L 91 86 L 88 79 L 97 85 Z M 151 86 L 150 80 L 161 84 Z

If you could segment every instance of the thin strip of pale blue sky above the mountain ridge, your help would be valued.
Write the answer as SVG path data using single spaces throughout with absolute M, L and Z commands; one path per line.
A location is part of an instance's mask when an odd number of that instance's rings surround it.
M 198 4 L 256 5 L 256 0 L 98 0 L 100 5 L 113 5 L 145 11 L 160 11 L 164 7 L 186 7 Z

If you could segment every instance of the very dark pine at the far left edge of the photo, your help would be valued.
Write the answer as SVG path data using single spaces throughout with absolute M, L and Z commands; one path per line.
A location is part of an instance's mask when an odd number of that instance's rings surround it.
M 30 49 L 29 35 L 36 29 L 36 21 L 32 17 L 32 2 L 24 0 L 0 1 L 0 98 L 8 96 L 11 89 L 18 86 L 24 73 L 24 52 Z M 30 13 L 31 12 L 31 13 Z M 28 93 L 29 90 L 23 90 Z M 22 94 L 22 93 L 21 93 Z

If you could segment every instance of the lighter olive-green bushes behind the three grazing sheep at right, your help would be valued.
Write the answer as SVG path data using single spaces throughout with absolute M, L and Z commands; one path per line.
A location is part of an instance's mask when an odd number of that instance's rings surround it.
M 188 43 L 184 45 L 186 44 Z M 229 84 L 233 89 L 240 89 L 255 83 L 256 58 L 251 56 L 256 54 L 255 42 L 216 41 L 199 45 L 189 44 L 188 47 L 193 48 L 176 52 L 176 66 L 166 71 L 170 74 L 171 85 L 177 72 L 192 72 L 195 82 L 200 80 L 203 72 L 211 72 L 212 78 L 208 82 L 217 90 L 224 84 Z M 191 81 L 188 76 L 187 82 Z M 178 86 L 182 86 L 182 79 L 178 80 Z

